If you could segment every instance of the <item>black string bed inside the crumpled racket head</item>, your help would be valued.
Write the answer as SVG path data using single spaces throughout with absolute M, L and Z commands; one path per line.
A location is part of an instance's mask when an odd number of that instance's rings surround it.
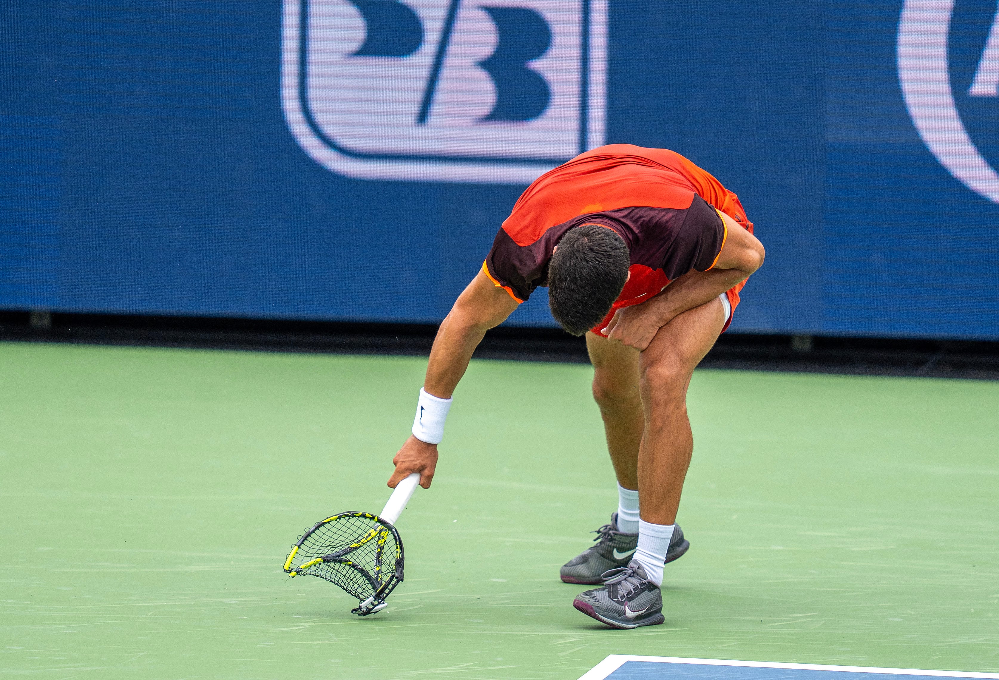
M 299 539 L 292 571 L 326 579 L 359 600 L 401 580 L 402 545 L 394 529 L 367 513 L 343 513 Z

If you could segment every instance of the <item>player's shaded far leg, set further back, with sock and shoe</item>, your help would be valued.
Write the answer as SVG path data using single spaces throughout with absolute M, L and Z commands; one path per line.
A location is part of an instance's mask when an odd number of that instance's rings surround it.
M 593 364 L 593 398 L 600 409 L 607 451 L 617 477 L 617 512 L 596 530 L 595 544 L 565 563 L 559 572 L 566 583 L 596 584 L 601 575 L 627 564 L 638 543 L 638 449 L 644 430 L 639 393 L 638 350 L 586 334 Z M 680 557 L 690 543 L 682 530 L 673 532 L 665 562 Z

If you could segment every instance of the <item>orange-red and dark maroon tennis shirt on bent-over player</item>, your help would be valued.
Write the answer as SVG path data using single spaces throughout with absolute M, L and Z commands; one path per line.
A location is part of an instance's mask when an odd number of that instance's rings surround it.
M 714 267 L 726 236 L 719 211 L 752 232 L 738 197 L 676 152 L 609 144 L 534 180 L 502 223 L 483 270 L 522 303 L 547 286 L 551 253 L 568 230 L 612 229 L 627 244 L 631 278 L 593 329 L 599 333 L 616 310 L 645 302 L 691 270 Z M 726 292 L 733 314 L 744 285 Z

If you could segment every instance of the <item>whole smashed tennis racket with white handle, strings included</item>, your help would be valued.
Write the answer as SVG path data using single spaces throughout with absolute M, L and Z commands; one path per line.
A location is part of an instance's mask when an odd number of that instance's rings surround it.
M 414 472 L 399 482 L 380 514 L 341 512 L 308 529 L 285 560 L 292 576 L 319 576 L 358 598 L 352 609 L 368 616 L 403 580 L 403 540 L 393 524 L 420 483 Z M 297 564 L 297 566 L 296 566 Z

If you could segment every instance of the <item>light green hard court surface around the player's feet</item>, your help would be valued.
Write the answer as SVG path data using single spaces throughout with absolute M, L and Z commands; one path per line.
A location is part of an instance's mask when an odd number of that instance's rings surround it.
M 666 624 L 571 608 L 616 494 L 578 364 L 474 361 L 406 581 L 281 571 L 381 509 L 426 360 L 0 343 L 0 675 L 574 680 L 609 654 L 999 670 L 999 382 L 698 371 Z M 734 676 L 729 676 L 734 677 Z

